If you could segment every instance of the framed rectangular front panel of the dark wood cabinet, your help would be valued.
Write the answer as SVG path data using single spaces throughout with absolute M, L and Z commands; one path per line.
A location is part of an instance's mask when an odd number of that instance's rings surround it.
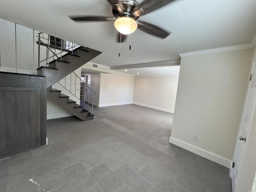
M 40 146 L 40 89 L 0 87 L 0 154 Z

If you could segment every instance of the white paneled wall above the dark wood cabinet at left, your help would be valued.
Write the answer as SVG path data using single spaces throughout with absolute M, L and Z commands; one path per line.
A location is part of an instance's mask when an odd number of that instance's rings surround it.
M 36 34 L 38 31 L 21 25 L 16 25 L 17 42 L 17 72 L 25 74 L 36 74 L 38 49 L 36 45 Z M 7 20 L 0 19 L 0 71 L 16 72 L 15 60 L 15 24 Z M 33 63 L 34 44 L 34 63 Z M 35 69 L 34 69 L 35 66 Z

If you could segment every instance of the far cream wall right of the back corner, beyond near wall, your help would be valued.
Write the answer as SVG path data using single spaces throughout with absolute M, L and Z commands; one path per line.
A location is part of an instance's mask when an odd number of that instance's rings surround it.
M 133 103 L 174 113 L 179 76 L 136 76 Z

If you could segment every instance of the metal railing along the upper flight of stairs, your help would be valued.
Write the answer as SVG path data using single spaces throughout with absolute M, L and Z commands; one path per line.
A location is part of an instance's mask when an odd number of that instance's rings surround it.
M 43 34 L 43 36 L 41 36 L 41 34 Z M 38 68 L 40 67 L 40 63 L 46 61 L 46 66 L 49 67 L 49 59 L 53 58 L 52 60 L 54 60 L 54 56 L 56 56 L 56 58 L 60 58 L 60 60 L 62 60 L 62 53 L 64 52 L 71 52 L 73 54 L 73 50 L 75 48 L 78 48 L 80 45 L 75 44 L 73 42 L 69 42 L 69 41 L 65 41 L 63 39 L 60 39 L 60 42 L 56 41 L 56 37 L 54 37 L 54 40 L 50 40 L 50 35 L 47 34 L 48 38 L 44 38 L 44 33 L 40 32 L 38 33 Z M 42 40 L 47 40 L 47 44 L 45 42 L 43 42 Z M 54 42 L 54 45 L 50 44 L 50 42 Z M 64 42 L 68 42 L 68 44 L 64 43 Z M 57 46 L 56 44 L 60 44 L 60 46 Z M 40 61 L 40 45 L 44 45 L 46 47 L 46 59 L 41 60 Z M 66 48 L 63 48 L 63 46 L 65 46 Z M 52 49 L 54 50 L 54 52 L 52 51 Z M 60 50 L 60 53 L 56 54 L 56 50 Z M 52 56 L 50 56 L 49 52 L 52 52 Z M 60 54 L 60 57 L 58 57 L 58 55 Z

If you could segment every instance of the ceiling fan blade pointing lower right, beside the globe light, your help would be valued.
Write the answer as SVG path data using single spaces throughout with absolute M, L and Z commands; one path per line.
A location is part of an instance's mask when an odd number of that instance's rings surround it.
M 171 34 L 170 32 L 167 32 L 155 25 L 149 24 L 144 21 L 138 22 L 138 28 L 146 33 L 152 34 L 152 35 L 160 37 L 162 39 L 168 37 L 168 35 Z

